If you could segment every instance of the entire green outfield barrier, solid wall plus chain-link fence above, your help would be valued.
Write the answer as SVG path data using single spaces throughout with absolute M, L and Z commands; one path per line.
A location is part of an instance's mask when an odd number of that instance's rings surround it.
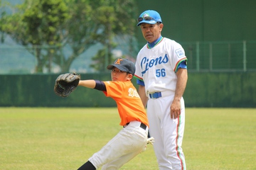
M 183 95 L 187 107 L 256 107 L 256 41 L 181 45 L 188 57 L 188 84 Z M 82 79 L 110 80 L 109 72 L 90 68 L 98 49 L 92 47 L 74 60 L 70 72 L 82 74 Z M 120 47 L 114 54 L 129 56 L 129 50 Z M 44 74 L 36 74 L 36 64 L 26 48 L 0 46 L 0 106 L 115 106 L 111 98 L 93 89 L 79 88 L 68 98 L 59 98 L 53 93 L 59 67 L 53 64 L 51 72 L 45 69 Z

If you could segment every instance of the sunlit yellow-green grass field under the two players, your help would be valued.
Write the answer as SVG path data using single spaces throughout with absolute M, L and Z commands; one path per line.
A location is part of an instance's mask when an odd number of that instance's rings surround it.
M 116 108 L 0 108 L 0 169 L 78 169 L 122 127 Z M 256 109 L 187 108 L 188 170 L 256 169 Z M 148 145 L 122 169 L 158 169 Z

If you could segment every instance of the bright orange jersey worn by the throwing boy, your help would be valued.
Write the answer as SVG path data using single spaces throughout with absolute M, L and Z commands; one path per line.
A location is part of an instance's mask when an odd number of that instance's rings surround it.
M 107 91 L 103 93 L 117 103 L 120 125 L 124 126 L 133 120 L 138 120 L 149 127 L 142 100 L 131 81 L 104 81 L 104 83 Z

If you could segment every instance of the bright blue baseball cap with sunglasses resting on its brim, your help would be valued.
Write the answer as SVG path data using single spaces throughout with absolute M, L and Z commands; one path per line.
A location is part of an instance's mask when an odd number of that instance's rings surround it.
M 162 23 L 161 16 L 158 12 L 154 10 L 144 11 L 142 14 L 140 14 L 138 18 L 137 26 L 141 25 L 142 23 L 149 23 L 149 24 Z

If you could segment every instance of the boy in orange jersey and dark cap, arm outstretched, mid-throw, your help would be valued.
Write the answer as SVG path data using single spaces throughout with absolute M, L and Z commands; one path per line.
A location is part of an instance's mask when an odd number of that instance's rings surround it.
M 143 152 L 150 142 L 147 139 L 149 123 L 146 111 L 131 81 L 134 63 L 119 58 L 107 69 L 112 70 L 112 81 L 80 80 L 78 86 L 103 91 L 105 96 L 113 98 L 121 118 L 120 125 L 124 128 L 78 170 L 119 169 Z

